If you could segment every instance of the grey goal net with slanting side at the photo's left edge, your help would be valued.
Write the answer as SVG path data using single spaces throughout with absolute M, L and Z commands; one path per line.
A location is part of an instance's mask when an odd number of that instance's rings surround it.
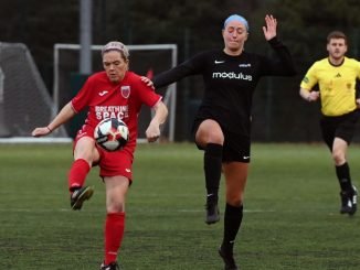
M 0 42 L 1 141 L 7 138 L 31 138 L 35 127 L 49 123 L 52 107 L 50 94 L 28 47 L 22 43 Z M 50 136 L 67 137 L 65 129 Z

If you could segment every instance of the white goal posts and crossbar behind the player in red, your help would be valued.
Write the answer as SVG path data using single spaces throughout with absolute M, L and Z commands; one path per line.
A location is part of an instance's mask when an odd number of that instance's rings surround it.
M 177 65 L 178 60 L 178 46 L 177 44 L 146 44 L 146 45 L 127 45 L 129 52 L 131 51 L 155 51 L 155 50 L 171 50 L 171 68 Z M 91 51 L 102 51 L 103 45 L 92 45 Z M 53 80 L 53 117 L 55 117 L 59 112 L 59 74 L 60 74 L 60 50 L 72 50 L 78 51 L 81 50 L 80 44 L 66 44 L 66 43 L 55 43 L 53 50 L 54 57 L 54 80 Z M 174 141 L 174 126 L 176 126 L 176 105 L 177 105 L 177 84 L 171 84 L 168 86 L 166 90 L 166 95 L 163 96 L 163 102 L 169 107 L 169 136 L 168 140 L 170 142 Z M 141 142 L 141 139 L 138 139 Z

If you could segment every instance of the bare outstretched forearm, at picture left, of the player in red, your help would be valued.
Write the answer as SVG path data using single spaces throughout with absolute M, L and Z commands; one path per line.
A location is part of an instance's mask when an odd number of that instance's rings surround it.
M 57 114 L 57 116 L 46 126 L 35 128 L 31 134 L 33 137 L 42 137 L 50 134 L 53 130 L 59 128 L 61 125 L 67 122 L 71 118 L 76 115 L 76 111 L 73 109 L 72 102 L 66 104 L 62 110 Z

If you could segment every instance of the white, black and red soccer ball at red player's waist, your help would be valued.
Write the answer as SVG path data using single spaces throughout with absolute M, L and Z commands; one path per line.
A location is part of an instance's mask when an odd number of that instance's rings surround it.
M 106 118 L 94 131 L 94 139 L 100 148 L 107 151 L 123 149 L 129 140 L 129 129 L 117 118 Z

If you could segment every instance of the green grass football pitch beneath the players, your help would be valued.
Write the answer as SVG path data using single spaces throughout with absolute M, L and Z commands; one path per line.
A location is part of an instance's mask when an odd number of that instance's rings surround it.
M 243 270 L 358 270 L 360 217 L 341 216 L 324 144 L 254 144 L 235 253 Z M 360 187 L 360 145 L 349 152 Z M 70 209 L 70 144 L 0 145 L 0 269 L 98 269 L 104 186 Z M 193 144 L 140 144 L 127 198 L 125 270 L 221 270 L 222 223 L 204 218 L 202 153 Z M 223 192 L 223 186 L 221 192 Z M 223 213 L 223 194 L 221 196 Z

